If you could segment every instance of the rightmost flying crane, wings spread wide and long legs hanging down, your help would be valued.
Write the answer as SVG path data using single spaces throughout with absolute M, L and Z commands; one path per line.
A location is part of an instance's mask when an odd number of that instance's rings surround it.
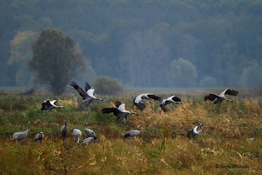
M 233 100 L 230 100 L 230 99 L 227 99 L 225 97 L 225 95 L 230 95 L 230 96 L 237 96 L 238 95 L 238 91 L 235 91 L 233 89 L 226 89 L 224 90 L 223 92 L 219 93 L 219 94 L 214 94 L 214 93 L 211 93 L 211 94 L 208 94 L 206 96 L 204 96 L 204 100 L 207 101 L 207 100 L 211 100 L 211 101 L 214 101 L 214 104 L 217 104 L 216 107 L 218 107 L 218 110 L 216 111 L 216 114 L 219 114 L 219 106 L 221 104 L 221 102 L 223 100 L 227 100 L 227 101 L 230 101 L 230 102 L 233 102 Z

